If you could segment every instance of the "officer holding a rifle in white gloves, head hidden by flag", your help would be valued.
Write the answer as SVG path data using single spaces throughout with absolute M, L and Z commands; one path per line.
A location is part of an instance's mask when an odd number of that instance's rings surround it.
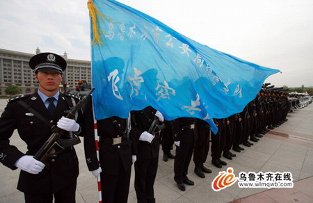
M 135 190 L 138 202 L 155 202 L 154 181 L 159 163 L 159 131 L 148 132 L 152 122 L 164 121 L 163 115 L 147 106 L 141 111 L 131 111 L 131 136 L 136 142 Z

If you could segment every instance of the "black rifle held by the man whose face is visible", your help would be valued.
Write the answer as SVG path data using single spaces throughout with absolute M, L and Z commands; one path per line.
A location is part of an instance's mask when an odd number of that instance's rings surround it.
M 87 97 L 91 95 L 91 93 L 95 90 L 95 88 L 92 88 L 86 97 L 83 97 L 73 108 L 71 109 L 70 113 L 68 113 L 65 117 L 73 119 L 75 117 L 75 114 L 81 109 L 81 106 L 83 106 L 83 103 L 86 101 Z M 33 156 L 35 159 L 41 162 L 47 161 L 49 157 L 56 155 L 57 153 L 54 153 L 56 150 L 56 147 L 60 147 L 61 149 L 65 149 L 65 147 L 70 147 L 72 145 L 76 145 L 80 143 L 79 137 L 72 138 L 72 139 L 60 139 L 60 137 L 65 133 L 65 130 L 60 129 L 56 127 L 55 125 L 51 127 L 51 136 L 49 139 L 45 142 L 42 147 L 40 147 L 39 151 Z M 47 165 L 46 165 L 47 166 Z

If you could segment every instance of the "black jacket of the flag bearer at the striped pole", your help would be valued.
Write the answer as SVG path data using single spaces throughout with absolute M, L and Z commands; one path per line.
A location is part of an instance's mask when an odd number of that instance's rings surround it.
M 91 98 L 91 97 L 90 97 Z M 101 163 L 102 172 L 105 174 L 118 174 L 120 163 L 125 171 L 131 168 L 131 140 L 127 138 L 127 121 L 120 117 L 109 117 L 103 120 L 97 120 L 97 134 L 101 138 L 122 137 L 122 143 L 111 145 L 99 141 L 99 161 L 97 159 L 95 148 L 95 128 L 93 124 L 93 111 L 91 99 L 86 101 L 84 108 L 85 130 L 84 147 L 88 169 L 90 171 L 99 168 Z M 131 133 L 131 132 L 130 132 Z M 101 139 L 100 138 L 100 139 Z

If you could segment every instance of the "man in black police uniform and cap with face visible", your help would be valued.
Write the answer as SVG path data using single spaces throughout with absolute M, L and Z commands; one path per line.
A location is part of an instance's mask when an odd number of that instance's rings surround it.
M 64 117 L 78 99 L 59 92 L 66 61 L 53 53 L 35 55 L 29 61 L 39 83 L 38 91 L 10 99 L 0 118 L 0 162 L 12 170 L 21 169 L 17 189 L 24 193 L 25 202 L 75 202 L 79 163 L 74 147 L 57 150 L 57 155 L 42 163 L 33 158 L 51 135 L 51 126 L 64 129 L 61 138 L 82 136 L 81 112 L 77 121 Z M 23 105 L 23 106 L 22 106 Z M 24 154 L 10 145 L 17 129 L 26 143 Z

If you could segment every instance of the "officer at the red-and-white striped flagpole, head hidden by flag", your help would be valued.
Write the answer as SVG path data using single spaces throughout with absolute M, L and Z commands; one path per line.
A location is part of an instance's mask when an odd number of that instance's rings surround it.
M 116 116 L 97 120 L 98 159 L 91 97 L 83 112 L 86 129 L 83 142 L 86 163 L 96 178 L 100 175 L 102 201 L 126 203 L 129 194 L 131 164 L 136 161 L 136 155 L 133 155 L 136 152 L 132 150 L 134 145 L 131 145 L 129 138 L 130 120 Z

